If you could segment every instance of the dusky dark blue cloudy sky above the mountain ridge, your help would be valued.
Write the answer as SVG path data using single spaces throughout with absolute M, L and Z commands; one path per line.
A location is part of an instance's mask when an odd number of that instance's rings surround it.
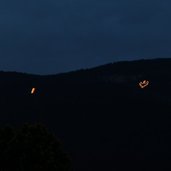
M 0 70 L 55 74 L 171 57 L 170 0 L 1 0 Z

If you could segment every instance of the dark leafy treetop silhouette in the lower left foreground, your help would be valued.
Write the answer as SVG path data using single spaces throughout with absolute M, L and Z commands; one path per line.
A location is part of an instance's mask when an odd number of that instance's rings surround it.
M 62 144 L 42 124 L 0 129 L 0 167 L 16 171 L 69 171 Z

